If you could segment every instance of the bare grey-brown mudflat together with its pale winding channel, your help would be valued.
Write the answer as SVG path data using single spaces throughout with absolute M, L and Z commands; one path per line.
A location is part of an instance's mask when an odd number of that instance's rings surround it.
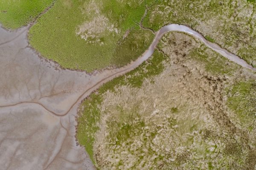
M 244 68 L 243 59 L 208 42 L 191 28 L 170 24 L 156 32 L 150 47 L 122 68 L 94 71 L 61 69 L 39 56 L 28 43 L 29 26 L 16 31 L 0 28 L 0 167 L 10 170 L 95 169 L 75 141 L 81 101 L 105 82 L 148 59 L 168 31 L 185 32 Z

